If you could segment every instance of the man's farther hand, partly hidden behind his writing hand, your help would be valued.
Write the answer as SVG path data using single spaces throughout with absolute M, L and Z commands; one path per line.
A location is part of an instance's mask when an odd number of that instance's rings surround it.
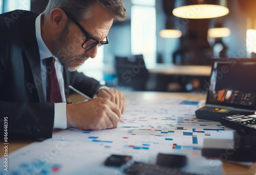
M 124 98 L 122 91 L 117 91 L 115 89 L 101 89 L 99 90 L 97 96 L 109 99 L 112 102 L 116 103 L 119 106 L 121 113 L 124 113 L 126 107 L 126 100 Z

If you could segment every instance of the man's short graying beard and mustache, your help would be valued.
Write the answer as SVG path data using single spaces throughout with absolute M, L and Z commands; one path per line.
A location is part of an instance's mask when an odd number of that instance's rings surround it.
M 70 65 L 70 61 L 72 61 L 73 59 L 87 60 L 89 56 L 76 55 L 73 57 L 69 57 L 70 52 L 68 51 L 68 46 L 70 45 L 70 39 L 68 38 L 68 33 L 70 31 L 70 26 L 71 25 L 67 23 L 63 30 L 56 37 L 53 38 L 52 51 L 53 55 L 58 58 L 59 62 L 64 68 L 66 68 L 70 72 L 74 72 L 82 64 L 72 66 Z

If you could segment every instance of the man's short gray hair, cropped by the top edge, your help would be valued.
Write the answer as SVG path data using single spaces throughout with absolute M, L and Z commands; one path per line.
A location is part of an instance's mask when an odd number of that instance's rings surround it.
M 77 21 L 89 19 L 90 10 L 95 3 L 108 10 L 114 20 L 123 21 L 126 17 L 122 0 L 50 0 L 44 14 L 49 17 L 53 9 L 60 8 L 72 14 Z

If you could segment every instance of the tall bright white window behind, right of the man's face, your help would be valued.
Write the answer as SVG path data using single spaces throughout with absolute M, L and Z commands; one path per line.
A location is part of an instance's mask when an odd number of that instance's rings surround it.
M 156 63 L 155 0 L 133 0 L 131 16 L 132 54 L 143 54 L 147 67 Z

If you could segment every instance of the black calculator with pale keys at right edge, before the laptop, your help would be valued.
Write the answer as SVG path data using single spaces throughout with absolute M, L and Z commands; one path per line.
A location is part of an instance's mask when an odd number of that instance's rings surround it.
M 221 123 L 232 129 L 256 132 L 256 114 L 248 116 L 238 114 L 223 117 Z

